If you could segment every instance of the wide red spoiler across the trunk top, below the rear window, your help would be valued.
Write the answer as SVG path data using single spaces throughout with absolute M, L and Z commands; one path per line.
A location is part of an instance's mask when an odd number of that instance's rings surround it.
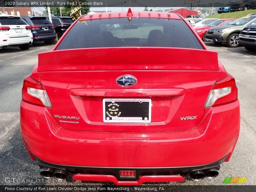
M 117 47 L 58 50 L 39 53 L 38 60 L 38 72 L 219 70 L 217 52 L 186 48 Z

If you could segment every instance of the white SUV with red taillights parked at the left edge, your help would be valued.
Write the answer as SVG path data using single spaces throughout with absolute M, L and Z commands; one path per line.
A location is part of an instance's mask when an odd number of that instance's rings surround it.
M 20 16 L 0 15 L 0 48 L 19 46 L 28 50 L 33 42 L 29 25 Z

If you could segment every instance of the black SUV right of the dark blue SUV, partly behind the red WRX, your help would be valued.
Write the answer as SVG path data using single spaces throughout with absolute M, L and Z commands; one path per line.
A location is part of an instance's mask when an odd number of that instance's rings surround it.
M 47 17 L 49 19 L 49 17 Z M 52 17 L 52 23 L 54 25 L 55 31 L 57 33 L 58 38 L 60 38 L 63 33 L 72 25 L 73 21 L 70 17 Z

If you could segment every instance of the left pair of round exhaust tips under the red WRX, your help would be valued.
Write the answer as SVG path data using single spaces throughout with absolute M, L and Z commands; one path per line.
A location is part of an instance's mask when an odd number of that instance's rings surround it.
M 43 167 L 40 175 L 46 179 L 55 177 L 57 180 L 65 180 L 68 178 L 68 172 L 61 169 L 53 169 L 51 167 Z

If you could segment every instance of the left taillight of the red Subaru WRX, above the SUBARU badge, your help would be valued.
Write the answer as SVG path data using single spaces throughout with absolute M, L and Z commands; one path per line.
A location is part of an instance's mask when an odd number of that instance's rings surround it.
M 22 100 L 39 106 L 52 107 L 44 87 L 31 76 L 24 79 Z

